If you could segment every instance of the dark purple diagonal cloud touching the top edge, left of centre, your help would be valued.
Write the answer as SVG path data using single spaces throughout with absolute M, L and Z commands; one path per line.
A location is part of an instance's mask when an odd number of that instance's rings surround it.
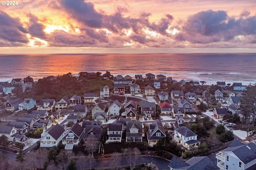
M 84 0 L 61 0 L 60 4 L 68 14 L 88 27 L 101 28 L 103 25 L 102 14 L 96 12 L 94 4 Z

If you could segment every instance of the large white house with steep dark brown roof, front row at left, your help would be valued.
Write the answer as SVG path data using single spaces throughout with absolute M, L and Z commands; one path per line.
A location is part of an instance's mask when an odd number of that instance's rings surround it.
M 65 135 L 65 129 L 58 123 L 54 127 L 48 129 L 41 135 L 40 147 L 53 147 L 63 139 Z

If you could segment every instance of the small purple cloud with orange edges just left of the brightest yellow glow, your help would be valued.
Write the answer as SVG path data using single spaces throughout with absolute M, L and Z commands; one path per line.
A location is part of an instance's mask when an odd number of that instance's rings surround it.
M 45 39 L 46 35 L 44 33 L 45 26 L 42 23 L 39 23 L 39 19 L 34 16 L 33 14 L 28 14 L 27 15 L 29 19 L 28 23 L 28 32 L 32 37 L 38 37 L 41 39 Z

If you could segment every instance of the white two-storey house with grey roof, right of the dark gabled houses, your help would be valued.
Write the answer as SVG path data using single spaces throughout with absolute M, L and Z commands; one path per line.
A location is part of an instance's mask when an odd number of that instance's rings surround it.
M 192 132 L 186 126 L 179 127 L 174 129 L 174 141 L 177 142 L 177 145 L 182 145 L 184 148 L 190 150 L 193 147 L 198 147 L 200 141 L 197 140 L 196 133 Z

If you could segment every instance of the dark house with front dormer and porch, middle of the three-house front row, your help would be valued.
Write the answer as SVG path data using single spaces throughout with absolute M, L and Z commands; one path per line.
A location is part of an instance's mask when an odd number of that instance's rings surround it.
M 142 123 L 140 121 L 126 123 L 126 142 L 142 142 Z

